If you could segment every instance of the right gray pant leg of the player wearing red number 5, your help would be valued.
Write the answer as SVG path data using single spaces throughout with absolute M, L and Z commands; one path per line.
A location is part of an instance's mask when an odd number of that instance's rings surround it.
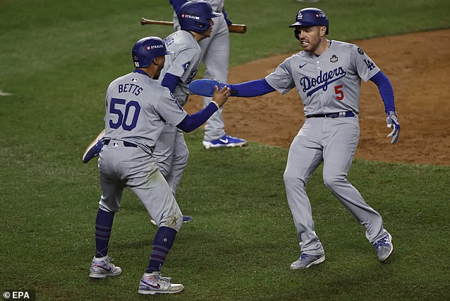
M 383 219 L 347 180 L 359 140 L 358 118 L 328 119 L 324 128 L 324 184 L 366 228 L 366 237 L 373 243 L 386 234 Z

